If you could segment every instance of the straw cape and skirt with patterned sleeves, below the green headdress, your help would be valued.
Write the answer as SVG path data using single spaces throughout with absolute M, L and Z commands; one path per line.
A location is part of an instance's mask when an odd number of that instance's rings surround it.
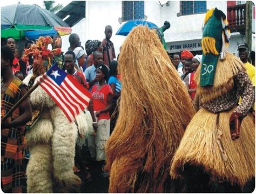
M 201 109 L 187 126 L 173 157 L 172 178 L 190 176 L 184 170 L 187 164 L 203 167 L 212 181 L 228 181 L 241 187 L 255 176 L 255 125 L 247 115 L 253 102 L 252 83 L 238 58 L 227 53 L 226 61 L 229 63 L 218 62 L 215 74 L 223 83 L 198 88 Z M 195 77 L 198 84 L 200 68 Z M 237 106 L 239 95 L 242 103 Z M 233 112 L 244 117 L 236 140 L 231 139 L 229 124 Z

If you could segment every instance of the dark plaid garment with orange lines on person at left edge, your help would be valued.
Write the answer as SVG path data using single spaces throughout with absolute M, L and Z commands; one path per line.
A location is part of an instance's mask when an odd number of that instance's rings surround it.
M 14 106 L 21 97 L 25 85 L 14 77 L 6 91 L 1 93 L 1 117 Z M 19 117 L 19 107 L 8 119 Z M 1 184 L 4 192 L 22 192 L 25 176 L 22 169 L 23 149 L 25 146 L 25 126 L 1 128 Z

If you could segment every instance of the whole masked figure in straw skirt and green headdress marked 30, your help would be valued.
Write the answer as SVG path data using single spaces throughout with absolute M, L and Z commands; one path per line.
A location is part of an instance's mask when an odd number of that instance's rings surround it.
M 185 192 L 212 192 L 211 183 L 241 189 L 255 176 L 255 125 L 247 116 L 253 87 L 244 64 L 225 52 L 230 32 L 224 13 L 211 9 L 204 25 L 203 59 L 194 76 L 200 109 L 186 128 L 170 174 L 185 180 Z

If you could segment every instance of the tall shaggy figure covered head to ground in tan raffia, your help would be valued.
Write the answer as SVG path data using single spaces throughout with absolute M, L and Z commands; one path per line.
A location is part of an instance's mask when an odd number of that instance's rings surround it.
M 137 26 L 120 53 L 122 93 L 106 144 L 109 192 L 169 192 L 169 168 L 194 110 L 158 35 Z

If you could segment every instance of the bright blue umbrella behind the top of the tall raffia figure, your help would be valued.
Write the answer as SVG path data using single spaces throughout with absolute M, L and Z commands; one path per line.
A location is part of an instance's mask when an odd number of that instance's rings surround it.
M 156 24 L 150 22 L 150 21 L 146 21 L 146 20 L 130 20 L 127 21 L 125 24 L 123 24 L 119 30 L 117 31 L 116 35 L 127 35 L 129 34 L 129 32 L 132 30 L 133 27 L 136 27 L 138 25 L 143 25 L 143 26 L 147 26 L 149 28 L 151 27 L 157 27 Z M 157 27 L 158 28 L 158 27 Z

